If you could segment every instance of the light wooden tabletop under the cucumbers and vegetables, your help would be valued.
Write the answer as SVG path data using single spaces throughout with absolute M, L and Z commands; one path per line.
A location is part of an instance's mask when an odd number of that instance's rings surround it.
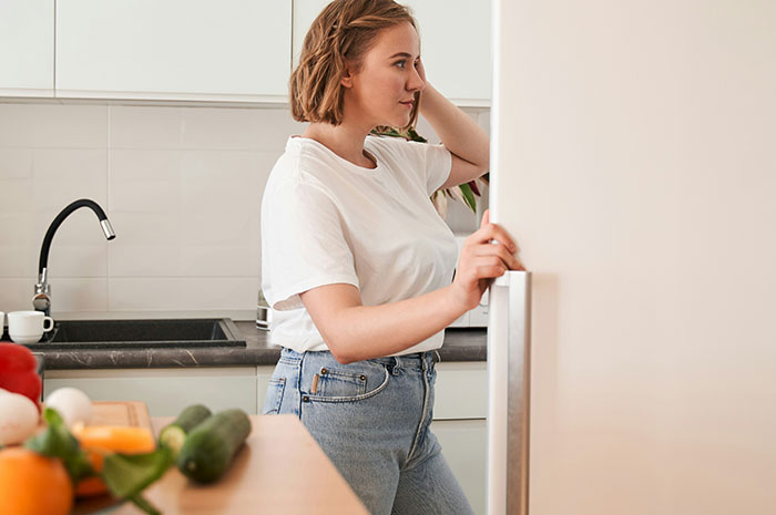
M 172 416 L 153 418 L 159 432 Z M 347 482 L 293 415 L 251 415 L 253 431 L 217 483 L 201 486 L 174 466 L 145 490 L 164 515 L 369 515 Z M 143 514 L 131 503 L 111 512 Z

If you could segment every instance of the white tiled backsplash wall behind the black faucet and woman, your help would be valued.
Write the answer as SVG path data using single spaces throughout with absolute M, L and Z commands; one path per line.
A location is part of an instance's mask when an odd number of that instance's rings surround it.
M 467 110 L 489 130 L 487 110 Z M 31 309 L 43 235 L 81 208 L 49 254 L 52 315 L 207 312 L 251 319 L 261 284 L 259 203 L 289 134 L 287 109 L 0 103 L 0 310 Z M 421 120 L 420 134 L 438 141 Z M 451 206 L 455 230 L 473 215 Z

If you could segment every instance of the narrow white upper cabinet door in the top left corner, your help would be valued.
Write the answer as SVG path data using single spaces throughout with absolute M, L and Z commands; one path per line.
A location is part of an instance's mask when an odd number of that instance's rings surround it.
M 54 0 L 0 1 L 0 96 L 53 96 Z

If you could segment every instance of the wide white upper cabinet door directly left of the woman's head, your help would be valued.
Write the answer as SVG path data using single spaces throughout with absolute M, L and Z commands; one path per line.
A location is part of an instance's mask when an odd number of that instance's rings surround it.
M 58 1 L 57 96 L 283 102 L 289 59 L 289 1 Z

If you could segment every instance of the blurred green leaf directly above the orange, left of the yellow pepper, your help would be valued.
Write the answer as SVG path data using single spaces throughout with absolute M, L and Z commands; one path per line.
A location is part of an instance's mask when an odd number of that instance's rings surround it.
M 92 475 L 94 472 L 86 459 L 86 453 L 81 449 L 75 436 L 70 434 L 57 410 L 52 408 L 43 410 L 43 420 L 45 420 L 45 429 L 27 439 L 24 446 L 39 454 L 62 460 L 73 483 Z

